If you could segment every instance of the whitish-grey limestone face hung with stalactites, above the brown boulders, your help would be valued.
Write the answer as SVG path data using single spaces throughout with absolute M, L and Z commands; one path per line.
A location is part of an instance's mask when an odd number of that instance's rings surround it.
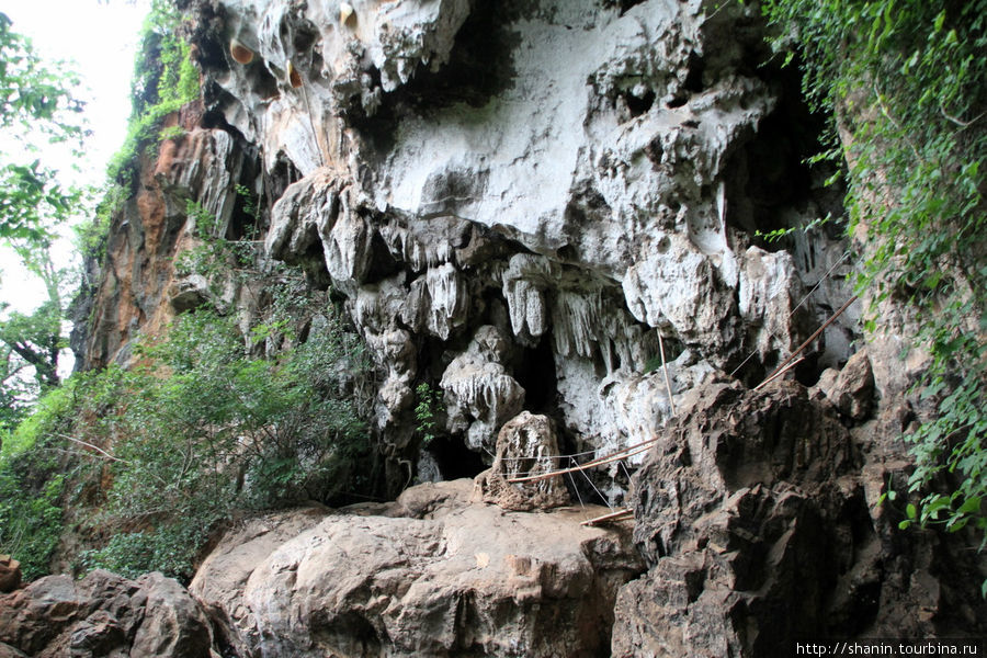
M 753 243 L 839 212 L 758 68 L 755 7 L 188 4 L 211 124 L 290 183 L 268 253 L 331 282 L 378 361 L 395 488 L 419 384 L 479 454 L 522 410 L 605 454 L 671 413 L 659 334 L 684 395 L 715 368 L 757 378 L 850 294 L 838 241 Z M 849 356 L 852 318 L 814 364 Z

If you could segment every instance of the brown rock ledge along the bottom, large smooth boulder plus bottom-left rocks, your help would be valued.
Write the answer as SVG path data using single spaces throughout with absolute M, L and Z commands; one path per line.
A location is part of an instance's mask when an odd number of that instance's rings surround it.
M 473 497 L 462 479 L 254 517 L 188 591 L 160 574 L 43 578 L 0 597 L 0 657 L 606 655 L 617 591 L 644 569 L 629 525 Z

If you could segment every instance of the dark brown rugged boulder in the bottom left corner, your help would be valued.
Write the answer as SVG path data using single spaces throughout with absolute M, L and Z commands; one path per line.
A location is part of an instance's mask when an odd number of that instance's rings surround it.
M 160 574 L 47 576 L 0 597 L 0 656 L 212 658 L 212 646 L 200 605 Z

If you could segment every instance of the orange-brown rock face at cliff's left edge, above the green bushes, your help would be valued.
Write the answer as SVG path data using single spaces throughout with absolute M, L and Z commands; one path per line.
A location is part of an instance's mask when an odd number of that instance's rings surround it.
M 76 300 L 71 334 L 81 368 L 128 364 L 133 341 L 157 334 L 177 313 L 204 303 L 224 310 L 249 306 L 249 286 L 177 266 L 198 241 L 196 217 L 214 219 L 217 237 L 241 237 L 247 218 L 235 185 L 253 185 L 257 175 L 249 147 L 227 131 L 204 127 L 203 112 L 193 103 L 167 117 L 166 126 L 181 134 L 135 163 L 111 218 L 106 256 L 87 262 L 89 294 Z

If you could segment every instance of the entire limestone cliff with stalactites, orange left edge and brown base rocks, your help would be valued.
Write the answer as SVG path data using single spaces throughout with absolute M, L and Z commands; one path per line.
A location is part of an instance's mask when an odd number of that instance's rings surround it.
M 458 499 L 250 522 L 192 588 L 226 655 L 769 656 L 813 634 L 980 628 L 963 576 L 937 566 L 975 572 L 971 554 L 912 544 L 874 507 L 907 468 L 893 439 L 909 411 L 880 395 L 895 368 L 858 351 L 859 305 L 789 381 L 750 390 L 851 299 L 854 262 L 831 225 L 756 235 L 841 215 L 830 172 L 803 163 L 818 118 L 762 66 L 757 8 L 183 4 L 204 98 L 114 219 L 76 337 L 89 366 L 126 362 L 138 331 L 200 302 L 250 307 L 249 281 L 217 293 L 173 266 L 194 240 L 185 202 L 236 238 L 246 185 L 263 257 L 331 287 L 374 354 L 384 492 L 409 468 L 477 475 L 495 450 L 499 468 L 498 436 L 513 460 L 541 451 L 527 470 L 657 439 L 568 491 L 632 507 L 636 549 L 567 512 L 491 520 Z M 444 407 L 429 445 L 422 384 Z M 503 502 L 511 485 L 491 481 Z

